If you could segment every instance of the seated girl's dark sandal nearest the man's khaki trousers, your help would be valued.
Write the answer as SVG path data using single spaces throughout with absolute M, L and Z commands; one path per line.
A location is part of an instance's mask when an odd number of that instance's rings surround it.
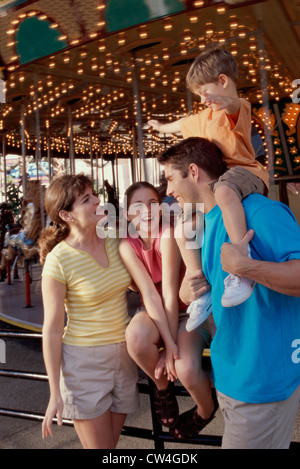
M 174 438 L 192 440 L 197 438 L 198 433 L 203 430 L 214 418 L 218 410 L 219 404 L 215 390 L 212 390 L 212 398 L 214 401 L 214 410 L 208 419 L 203 419 L 197 413 L 197 406 L 181 414 L 178 418 L 177 424 L 170 428 L 170 433 Z

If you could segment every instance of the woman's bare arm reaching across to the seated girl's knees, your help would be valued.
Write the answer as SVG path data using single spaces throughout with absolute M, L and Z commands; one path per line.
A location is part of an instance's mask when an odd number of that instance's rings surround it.
M 155 288 L 155 285 L 148 274 L 144 264 L 140 261 L 130 244 L 126 240 L 121 240 L 119 244 L 121 259 L 137 285 L 146 308 L 152 321 L 163 339 L 165 347 L 172 351 L 174 358 L 178 358 L 177 346 L 170 332 L 168 320 L 162 304 L 162 299 Z M 175 369 L 168 370 L 176 376 Z

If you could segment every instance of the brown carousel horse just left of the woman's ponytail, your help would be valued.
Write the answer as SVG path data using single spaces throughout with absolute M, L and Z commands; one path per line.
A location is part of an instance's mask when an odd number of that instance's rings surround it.
M 37 240 L 42 230 L 41 201 L 44 197 L 39 181 L 28 181 L 18 226 L 7 224 L 4 238 L 0 270 L 7 261 L 14 267 L 23 267 L 23 262 L 38 254 Z M 42 192 L 41 192 L 42 191 Z M 14 271 L 14 278 L 17 273 Z

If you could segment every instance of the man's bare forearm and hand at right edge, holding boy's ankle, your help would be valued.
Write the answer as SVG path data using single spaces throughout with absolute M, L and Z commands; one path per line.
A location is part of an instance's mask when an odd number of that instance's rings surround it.
M 222 268 L 225 272 L 248 277 L 271 290 L 284 295 L 300 297 L 300 260 L 268 262 L 251 259 L 241 254 L 254 234 L 249 230 L 238 244 L 224 243 L 221 250 Z

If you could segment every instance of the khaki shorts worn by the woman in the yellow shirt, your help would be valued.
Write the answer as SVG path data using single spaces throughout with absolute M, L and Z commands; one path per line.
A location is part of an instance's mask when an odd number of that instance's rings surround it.
M 93 419 L 108 409 L 122 414 L 134 412 L 139 407 L 137 380 L 137 366 L 125 342 L 98 347 L 63 344 L 63 417 Z

